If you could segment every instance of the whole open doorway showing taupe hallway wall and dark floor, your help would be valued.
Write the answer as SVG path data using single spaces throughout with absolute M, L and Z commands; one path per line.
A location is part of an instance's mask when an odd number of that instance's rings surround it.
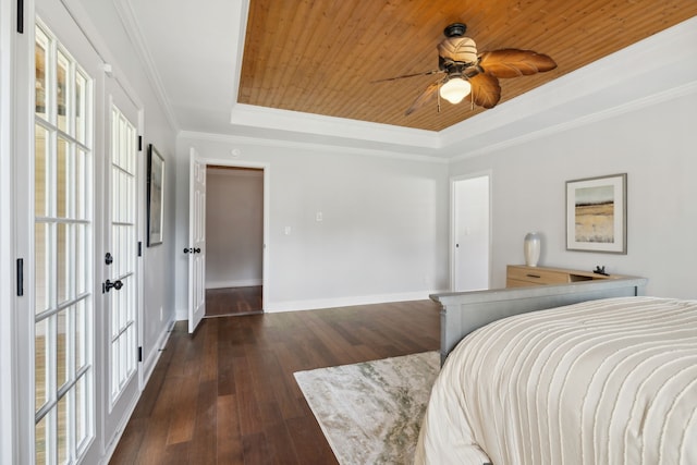
M 206 317 L 264 313 L 264 169 L 206 167 Z

